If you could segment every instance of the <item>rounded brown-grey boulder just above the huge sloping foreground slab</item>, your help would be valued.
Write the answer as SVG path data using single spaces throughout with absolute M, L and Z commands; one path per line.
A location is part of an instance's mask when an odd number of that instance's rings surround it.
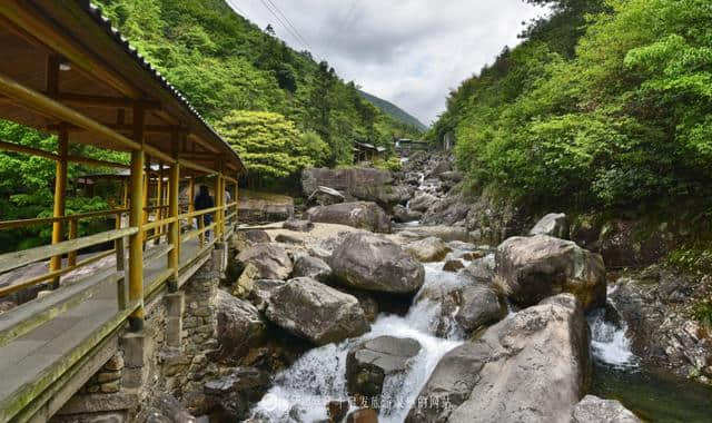
M 572 293 L 584 311 L 605 304 L 605 266 L 600 255 L 545 235 L 513 237 L 495 253 L 495 284 L 521 306 Z

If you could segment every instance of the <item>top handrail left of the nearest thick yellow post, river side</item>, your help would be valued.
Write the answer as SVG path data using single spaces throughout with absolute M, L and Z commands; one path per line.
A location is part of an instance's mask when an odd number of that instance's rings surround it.
M 21 252 L 0 255 L 0 274 L 13 270 L 30 263 L 39 262 L 55 256 L 60 256 L 76 249 L 91 247 L 109 240 L 122 238 L 138 233 L 138 228 L 130 227 L 123 229 L 108 230 L 100 234 L 89 235 L 77 239 L 65 240 L 55 245 L 23 249 Z

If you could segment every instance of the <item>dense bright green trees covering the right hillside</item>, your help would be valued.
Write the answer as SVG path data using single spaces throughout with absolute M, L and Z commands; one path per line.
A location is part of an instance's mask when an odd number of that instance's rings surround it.
M 546 208 L 680 210 L 712 188 L 708 0 L 532 0 L 533 22 L 451 94 L 429 137 L 453 130 L 475 187 Z

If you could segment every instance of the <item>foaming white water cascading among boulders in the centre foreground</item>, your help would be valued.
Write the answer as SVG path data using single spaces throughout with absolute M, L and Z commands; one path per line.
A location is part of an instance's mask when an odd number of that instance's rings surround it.
M 455 274 L 443 272 L 442 268 L 443 263 L 425 265 L 425 284 L 421 293 L 428 288 L 463 283 Z M 329 401 L 348 400 L 346 355 L 350 347 L 365 340 L 390 335 L 416 340 L 422 347 L 404 374 L 387 376 L 384 383 L 382 401 L 388 401 L 390 406 L 382 407 L 378 421 L 403 422 L 441 357 L 462 344 L 455 325 L 449 328 L 447 338 L 434 336 L 439 314 L 439 304 L 416 299 L 403 317 L 382 314 L 367 334 L 337 345 L 312 350 L 276 376 L 274 387 L 256 405 L 254 415 L 270 422 L 314 422 L 327 419 L 326 405 Z M 299 420 L 290 414 L 298 414 Z

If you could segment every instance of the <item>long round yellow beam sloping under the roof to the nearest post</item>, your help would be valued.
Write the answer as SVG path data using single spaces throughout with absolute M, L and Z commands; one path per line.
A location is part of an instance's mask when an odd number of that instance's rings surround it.
M 86 130 L 106 137 L 115 142 L 118 142 L 129 149 L 140 149 L 141 145 L 128 139 L 127 137 L 107 128 L 105 125 L 97 122 L 96 120 L 73 110 L 69 107 L 52 100 L 51 98 L 27 88 L 12 78 L 0 72 L 0 92 L 6 96 L 16 99 L 20 105 L 34 109 L 41 114 L 47 114 L 58 118 L 62 121 L 67 121 L 75 126 L 85 128 Z

